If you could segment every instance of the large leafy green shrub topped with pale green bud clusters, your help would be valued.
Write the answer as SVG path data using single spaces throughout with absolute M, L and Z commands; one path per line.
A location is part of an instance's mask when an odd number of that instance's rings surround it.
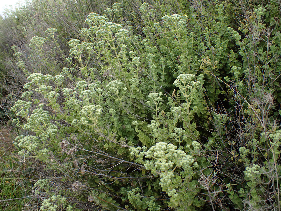
M 69 66 L 31 74 L 12 107 L 28 134 L 16 139 L 19 155 L 71 181 L 69 200 L 108 210 L 280 207 L 279 95 L 268 81 L 280 85 L 266 73 L 280 33 L 266 33 L 260 5 L 230 27 L 230 4 L 158 17 L 143 3 L 142 23 L 120 3 L 90 13 L 69 41 Z

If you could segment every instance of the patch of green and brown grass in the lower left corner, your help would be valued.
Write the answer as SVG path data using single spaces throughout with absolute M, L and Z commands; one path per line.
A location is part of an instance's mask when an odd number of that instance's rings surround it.
M 16 157 L 13 132 L 8 127 L 0 130 L 0 210 L 21 211 L 30 201 L 32 188 L 28 169 Z M 24 209 L 25 210 L 25 209 Z

